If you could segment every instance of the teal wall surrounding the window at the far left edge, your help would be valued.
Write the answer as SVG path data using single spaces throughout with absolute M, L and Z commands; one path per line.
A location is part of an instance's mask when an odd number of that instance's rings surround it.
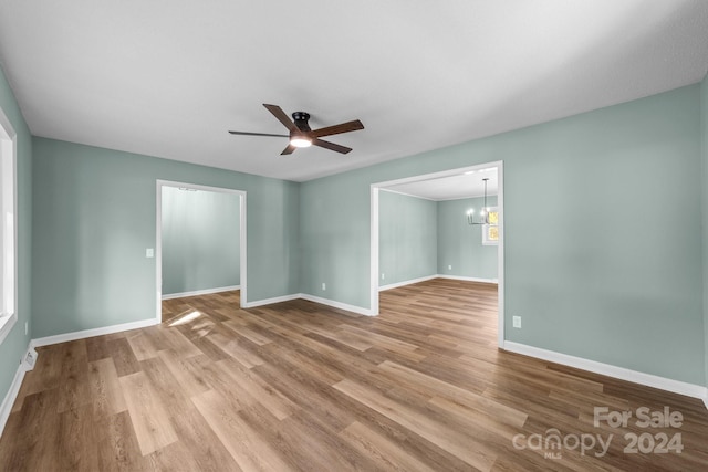
M 12 379 L 24 355 L 32 333 L 33 319 L 30 281 L 31 281 L 31 241 L 32 241 L 32 137 L 24 123 L 22 113 L 0 69 L 0 108 L 8 117 L 17 133 L 17 196 L 18 196 L 18 322 L 0 344 L 0 402 L 10 390 Z M 24 334 L 24 324 L 30 331 Z

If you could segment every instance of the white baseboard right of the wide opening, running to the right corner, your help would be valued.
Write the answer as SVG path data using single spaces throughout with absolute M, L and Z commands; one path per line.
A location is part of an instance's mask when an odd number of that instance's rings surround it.
M 595 360 L 583 359 L 582 357 L 569 356 L 566 354 L 541 349 L 539 347 L 528 346 L 525 344 L 513 343 L 510 340 L 504 342 L 503 349 L 517 354 L 523 354 L 524 356 L 535 357 L 539 359 L 549 360 L 551 363 L 562 364 L 564 366 L 575 367 L 577 369 L 601 374 L 607 377 L 614 377 L 620 380 L 641 384 L 647 387 L 654 387 L 662 390 L 671 391 L 674 394 L 685 395 L 687 397 L 699 398 L 704 400 L 706 407 L 708 408 L 708 388 L 704 386 L 659 377 L 652 374 L 639 373 L 636 370 L 626 369 L 624 367 L 617 367 L 610 364 L 597 363 Z

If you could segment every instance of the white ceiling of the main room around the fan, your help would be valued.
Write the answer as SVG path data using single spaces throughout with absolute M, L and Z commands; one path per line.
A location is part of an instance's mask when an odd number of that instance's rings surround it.
M 37 136 L 304 181 L 699 82 L 705 0 L 2 0 Z M 361 119 L 281 157 L 262 107 Z

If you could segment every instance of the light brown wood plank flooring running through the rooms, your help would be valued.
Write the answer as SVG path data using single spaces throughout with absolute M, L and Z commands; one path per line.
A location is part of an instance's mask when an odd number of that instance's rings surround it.
M 499 350 L 493 285 L 382 292 L 378 317 L 238 292 L 163 306 L 39 349 L 0 470 L 708 470 L 701 401 Z M 680 426 L 639 421 L 666 409 Z

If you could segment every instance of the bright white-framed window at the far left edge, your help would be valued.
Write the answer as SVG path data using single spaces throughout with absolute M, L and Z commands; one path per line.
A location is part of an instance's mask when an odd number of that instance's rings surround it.
M 0 109 L 0 343 L 18 319 L 15 313 L 15 134 Z

